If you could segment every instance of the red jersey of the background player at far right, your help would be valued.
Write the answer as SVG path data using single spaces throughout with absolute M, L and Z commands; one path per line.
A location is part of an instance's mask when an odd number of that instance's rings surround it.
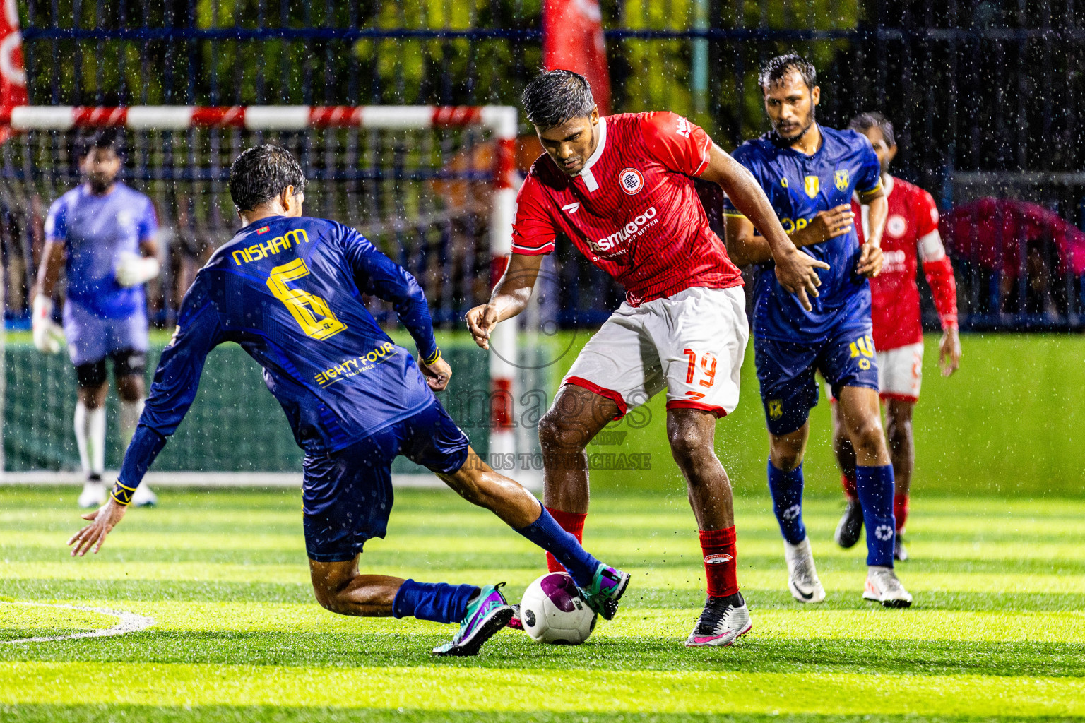
M 919 285 L 916 283 L 920 255 L 942 328 L 957 326 L 957 282 L 939 235 L 939 209 L 934 198 L 918 185 L 896 177 L 889 179 L 891 185 L 885 188 L 889 216 L 882 233 L 884 261 L 881 273 L 870 280 L 875 348 L 879 351 L 923 340 Z M 854 199 L 852 211 L 859 217 L 860 209 Z M 866 238 L 866 224 L 864 216 L 861 228 L 857 229 L 860 243 Z

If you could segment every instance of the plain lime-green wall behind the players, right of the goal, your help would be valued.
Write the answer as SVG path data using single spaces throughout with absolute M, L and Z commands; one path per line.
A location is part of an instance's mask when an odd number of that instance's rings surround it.
M 586 332 L 565 332 L 553 341 L 569 352 L 552 367 L 560 382 Z M 1085 499 L 1081 450 L 1085 448 L 1085 336 L 1051 334 L 966 334 L 960 370 L 939 374 L 939 335 L 927 335 L 923 386 L 915 412 L 914 489 L 928 494 L 975 496 L 1056 496 Z M 600 469 L 597 489 L 685 487 L 671 460 L 663 419 L 664 395 L 608 427 L 620 432 L 593 452 L 647 453 L 648 474 Z M 829 403 L 824 388 L 810 414 L 810 441 L 804 463 L 807 489 L 835 491 L 840 473 L 832 454 Z M 624 436 L 621 432 L 625 432 Z M 754 373 L 753 340 L 742 366 L 738 409 L 722 419 L 716 451 L 739 493 L 765 489 L 768 436 Z

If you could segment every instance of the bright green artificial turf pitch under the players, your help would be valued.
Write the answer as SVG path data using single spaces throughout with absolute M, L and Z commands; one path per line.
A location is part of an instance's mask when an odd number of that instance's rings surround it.
M 680 493 L 604 490 L 585 542 L 633 572 L 618 616 L 582 646 L 499 633 L 474 659 L 434 659 L 451 625 L 356 619 L 309 589 L 296 490 L 158 490 L 95 557 L 72 559 L 75 488 L 0 488 L 0 720 L 23 721 L 979 721 L 1085 720 L 1085 502 L 917 495 L 909 610 L 864 603 L 861 544 L 831 541 L 841 503 L 806 505 L 822 605 L 786 590 L 767 495 L 737 500 L 753 631 L 682 642 L 703 601 Z M 399 491 L 368 571 L 508 581 L 541 555 L 444 491 Z M 11 644 L 108 628 L 56 602 L 149 616 L 116 637 Z

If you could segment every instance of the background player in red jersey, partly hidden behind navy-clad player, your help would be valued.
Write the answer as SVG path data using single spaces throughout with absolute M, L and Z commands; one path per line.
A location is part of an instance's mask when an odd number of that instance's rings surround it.
M 880 113 L 856 116 L 850 128 L 870 139 L 882 167 L 882 185 L 889 196 L 889 216 L 882 233 L 883 266 L 881 274 L 870 280 L 873 297 L 873 337 L 878 350 L 878 372 L 881 377 L 882 402 L 885 404 L 885 436 L 889 441 L 896 491 L 893 499 L 896 517 L 896 548 L 893 556 L 908 558 L 902 537 L 908 518 L 908 491 L 916 448 L 911 431 L 911 413 L 919 400 L 919 384 L 923 366 L 923 326 L 919 314 L 919 286 L 916 283 L 918 260 L 931 286 L 934 307 L 942 321 L 939 361 L 942 376 L 949 376 L 960 362 L 960 338 L 957 335 L 957 284 L 953 267 L 939 235 L 939 210 L 931 194 L 917 185 L 889 175 L 889 165 L 896 156 L 893 124 Z M 855 202 L 852 210 L 860 216 Z M 866 219 L 863 219 L 864 222 Z M 866 225 L 859 231 L 865 238 Z M 855 493 L 855 450 L 843 434 L 837 405 L 832 412 L 833 448 L 842 470 L 841 480 L 847 496 L 847 508 L 837 526 L 837 542 L 851 547 L 863 529 L 863 509 Z

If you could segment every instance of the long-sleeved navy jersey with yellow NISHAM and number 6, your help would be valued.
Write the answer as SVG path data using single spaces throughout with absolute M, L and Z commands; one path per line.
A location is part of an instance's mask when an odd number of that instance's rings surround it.
M 120 482 L 142 479 L 192 404 L 204 360 L 224 341 L 264 367 L 309 454 L 341 450 L 433 404 L 414 360 L 376 325 L 362 294 L 393 302 L 423 359 L 436 352 L 418 282 L 354 229 L 281 216 L 242 229 L 184 296 Z

